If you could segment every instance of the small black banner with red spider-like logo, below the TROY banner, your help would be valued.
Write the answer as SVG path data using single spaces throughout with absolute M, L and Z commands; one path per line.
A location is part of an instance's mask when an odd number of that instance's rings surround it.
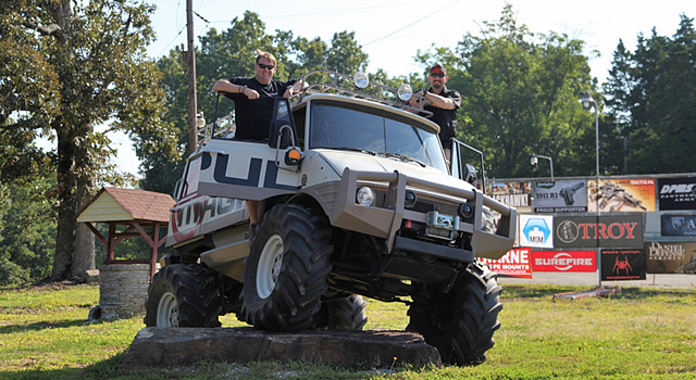
M 601 280 L 645 280 L 643 250 L 601 250 Z

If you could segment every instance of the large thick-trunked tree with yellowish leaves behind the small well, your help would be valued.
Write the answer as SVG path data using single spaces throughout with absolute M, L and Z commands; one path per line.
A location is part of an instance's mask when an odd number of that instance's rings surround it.
M 152 11 L 130 0 L 18 0 L 0 10 L 0 125 L 57 141 L 52 279 L 94 267 L 94 237 L 75 216 L 97 181 L 119 183 L 105 134 L 147 136 L 144 150 L 167 141 L 159 72 L 144 48 L 153 38 Z M 95 129 L 107 122 L 105 131 Z

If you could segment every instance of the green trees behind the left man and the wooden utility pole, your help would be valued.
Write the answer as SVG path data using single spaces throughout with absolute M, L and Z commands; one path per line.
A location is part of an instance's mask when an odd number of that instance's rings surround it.
M 270 51 L 277 59 L 275 78 L 297 78 L 316 68 L 328 68 L 341 73 L 365 69 L 368 54 L 356 41 L 355 33 L 340 31 L 331 43 L 320 38 L 308 40 L 294 36 L 293 31 L 265 33 L 265 24 L 257 13 L 247 11 L 244 17 L 235 17 L 226 30 L 211 28 L 200 37 L 200 49 L 196 51 L 196 75 L 198 111 L 203 112 L 208 123 L 215 115 L 216 94 L 212 93 L 215 81 L 232 77 L 252 77 L 256 73 L 257 49 Z M 135 137 L 136 152 L 142 163 L 145 175 L 141 186 L 146 190 L 170 193 L 182 176 L 185 153 L 188 152 L 188 81 L 186 67 L 182 64 L 182 52 L 177 49 L 158 61 L 163 74 L 162 85 L 167 99 L 164 119 L 176 126 L 172 141 L 178 154 L 165 155 L 158 151 L 140 149 L 144 144 Z M 384 74 L 386 77 L 386 73 Z M 221 117 L 234 110 L 234 103 L 220 98 L 216 115 Z

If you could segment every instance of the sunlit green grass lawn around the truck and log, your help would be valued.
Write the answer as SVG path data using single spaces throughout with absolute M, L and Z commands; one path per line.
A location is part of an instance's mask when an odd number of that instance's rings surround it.
M 507 284 L 502 327 L 474 368 L 351 371 L 315 363 L 201 363 L 122 373 L 142 317 L 87 322 L 99 288 L 0 291 L 0 379 L 696 379 L 696 290 L 629 288 L 607 299 L 554 301 L 587 287 Z M 369 301 L 369 330 L 402 330 L 407 307 Z M 223 326 L 243 326 L 234 316 Z

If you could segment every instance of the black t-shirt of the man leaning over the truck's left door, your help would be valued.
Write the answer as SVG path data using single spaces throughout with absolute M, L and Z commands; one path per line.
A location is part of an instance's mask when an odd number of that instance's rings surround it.
M 229 83 L 237 86 L 247 86 L 259 92 L 259 99 L 249 100 L 244 93 L 225 93 L 235 102 L 235 124 L 237 130 L 235 138 L 245 140 L 265 140 L 269 138 L 269 128 L 273 119 L 273 97 L 282 97 L 288 86 L 296 80 L 281 81 L 272 79 L 268 85 L 262 85 L 253 78 L 231 78 Z

